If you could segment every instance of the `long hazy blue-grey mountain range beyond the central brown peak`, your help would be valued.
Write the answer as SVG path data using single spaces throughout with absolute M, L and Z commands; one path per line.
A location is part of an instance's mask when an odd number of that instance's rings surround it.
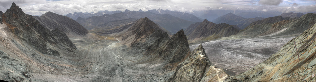
M 105 14 L 102 16 L 93 16 L 87 19 L 78 18 L 76 21 L 84 26 L 86 29 L 91 30 L 99 25 L 108 23 L 113 20 L 123 20 L 123 19 L 140 19 L 148 17 L 150 20 L 153 20 L 155 23 L 159 24 L 161 27 L 170 31 L 171 33 L 176 33 L 180 29 L 186 29 L 190 24 L 194 22 L 187 21 L 174 17 L 170 14 L 154 14 L 151 12 L 136 12 L 131 11 L 129 13 L 115 13 L 115 14 Z

